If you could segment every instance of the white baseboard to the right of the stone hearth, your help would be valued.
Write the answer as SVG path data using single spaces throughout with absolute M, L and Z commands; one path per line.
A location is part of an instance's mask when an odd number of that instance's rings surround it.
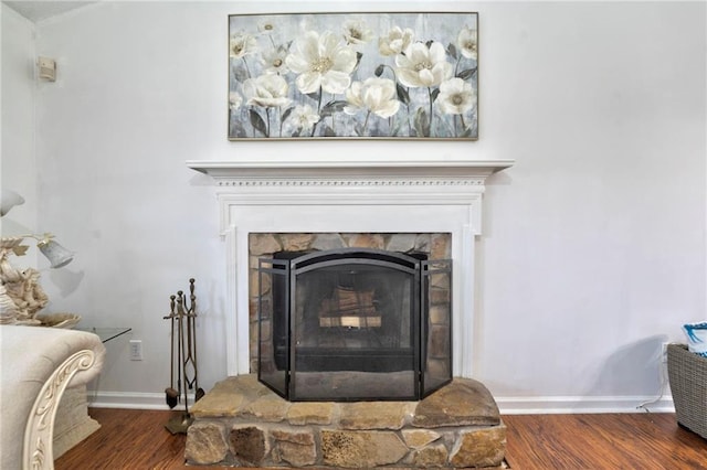
M 495 399 L 502 415 L 675 413 L 672 396 L 497 396 Z

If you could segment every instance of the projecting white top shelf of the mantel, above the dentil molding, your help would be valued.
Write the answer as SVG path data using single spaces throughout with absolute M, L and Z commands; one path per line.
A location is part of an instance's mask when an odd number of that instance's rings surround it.
M 215 180 L 330 178 L 486 178 L 514 160 L 464 161 L 217 161 L 189 160 L 187 167 Z

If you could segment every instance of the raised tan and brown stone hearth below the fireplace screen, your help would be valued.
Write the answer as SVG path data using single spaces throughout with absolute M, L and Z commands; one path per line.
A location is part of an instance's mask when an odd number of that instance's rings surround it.
M 241 375 L 191 412 L 190 464 L 504 468 L 506 427 L 486 387 L 469 378 L 420 402 L 292 403 Z

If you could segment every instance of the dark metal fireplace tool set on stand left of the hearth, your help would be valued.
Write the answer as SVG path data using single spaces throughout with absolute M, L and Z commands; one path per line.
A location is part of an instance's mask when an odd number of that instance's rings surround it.
M 165 427 L 171 434 L 186 434 L 191 425 L 189 414 L 189 391 L 193 391 L 194 403 L 204 395 L 199 387 L 197 366 L 197 296 L 194 279 L 189 279 L 189 299 L 183 291 L 169 297 L 170 313 L 163 317 L 170 321 L 170 371 L 169 387 L 165 388 L 165 399 L 170 408 L 183 403 L 184 412 L 169 419 Z M 175 381 L 175 373 L 177 380 Z

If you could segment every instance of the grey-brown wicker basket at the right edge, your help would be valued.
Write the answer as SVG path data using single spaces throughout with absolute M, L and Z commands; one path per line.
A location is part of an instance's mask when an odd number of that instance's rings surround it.
M 707 357 L 668 344 L 667 374 L 677 423 L 707 439 Z

